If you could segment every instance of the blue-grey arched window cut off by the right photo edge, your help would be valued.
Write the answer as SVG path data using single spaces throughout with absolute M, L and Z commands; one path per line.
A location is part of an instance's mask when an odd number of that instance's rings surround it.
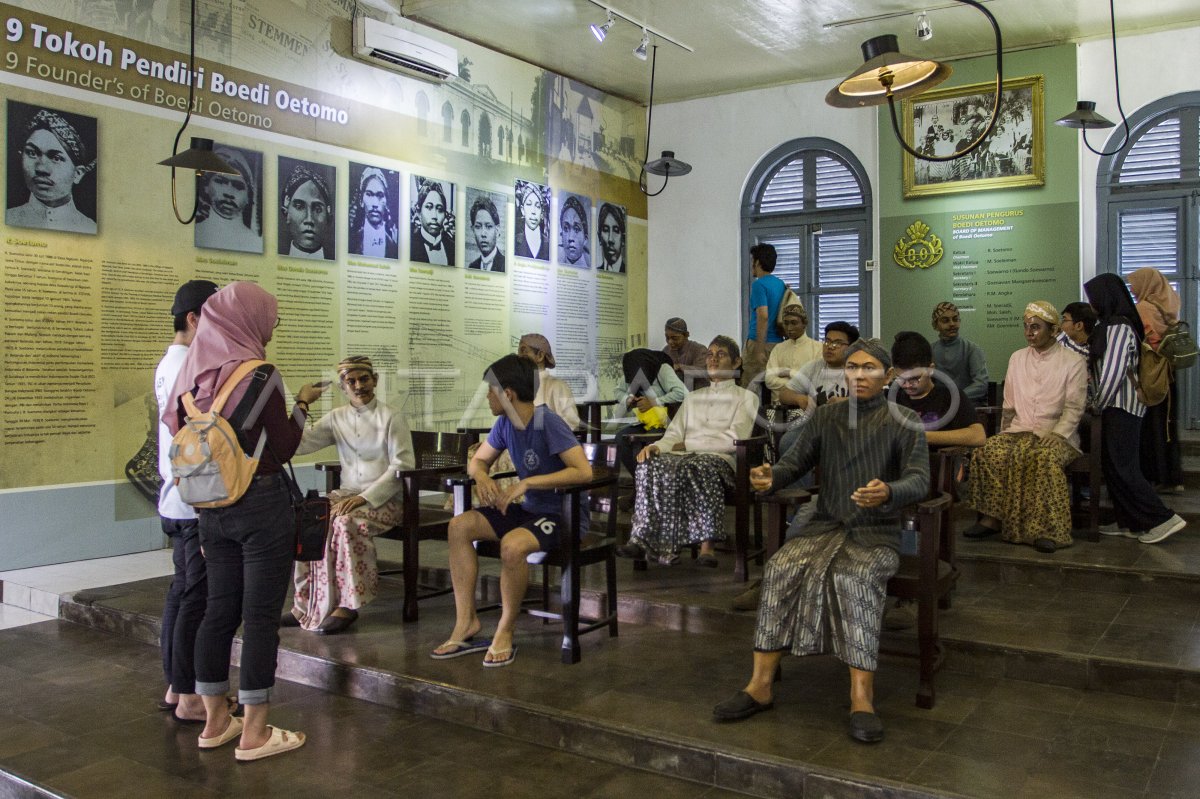
M 1105 143 L 1121 142 L 1117 127 Z M 1200 91 L 1165 97 L 1129 116 L 1129 142 L 1100 158 L 1097 270 L 1128 275 L 1153 266 L 1183 300 L 1181 316 L 1200 322 Z M 1181 373 L 1180 420 L 1200 428 L 1200 370 Z

